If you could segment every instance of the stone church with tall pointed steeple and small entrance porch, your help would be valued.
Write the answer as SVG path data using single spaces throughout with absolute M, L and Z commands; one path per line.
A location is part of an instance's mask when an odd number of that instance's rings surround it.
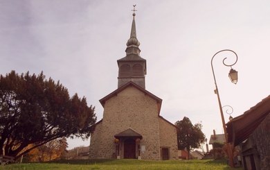
M 178 159 L 177 128 L 160 116 L 162 99 L 145 90 L 139 45 L 134 12 L 126 56 L 117 60 L 118 88 L 100 99 L 103 118 L 91 133 L 89 159 Z

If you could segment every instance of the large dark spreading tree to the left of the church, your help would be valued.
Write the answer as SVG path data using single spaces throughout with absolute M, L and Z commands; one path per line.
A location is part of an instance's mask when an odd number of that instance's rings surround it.
M 84 97 L 70 97 L 43 73 L 0 76 L 0 155 L 19 158 L 53 139 L 88 138 L 95 122 L 94 107 Z

